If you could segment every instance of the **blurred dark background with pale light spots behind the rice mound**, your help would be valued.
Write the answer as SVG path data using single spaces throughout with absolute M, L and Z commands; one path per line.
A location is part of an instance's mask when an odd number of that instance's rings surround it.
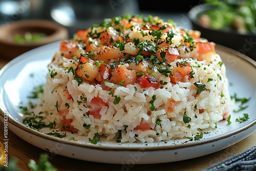
M 158 15 L 173 19 L 190 28 L 186 13 L 203 1 L 137 1 L 137 0 L 0 0 L 0 22 L 8 24 L 21 19 L 49 19 L 66 27 L 69 37 L 102 19 L 123 14 Z

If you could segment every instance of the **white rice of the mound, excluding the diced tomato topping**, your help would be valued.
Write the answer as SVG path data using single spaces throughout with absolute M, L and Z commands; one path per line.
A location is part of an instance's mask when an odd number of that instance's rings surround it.
M 177 32 L 175 37 L 179 36 Z M 175 37 L 173 42 L 177 41 Z M 76 40 L 72 42 L 77 45 Z M 207 59 L 198 60 L 191 58 L 196 50 L 182 53 L 182 48 L 178 47 L 181 58 L 169 62 L 168 67 L 176 71 L 177 63 L 185 62 L 191 66 L 193 77 L 172 83 L 168 76 L 155 71 L 156 80 L 164 82 L 158 89 L 141 88 L 138 83 L 124 87 L 109 79 L 79 82 L 70 69 L 77 68 L 80 56 L 67 58 L 62 51 L 57 52 L 48 66 L 50 72 L 41 97 L 47 119 L 61 128 L 65 118 L 71 122 L 68 127 L 73 126 L 71 131 L 88 139 L 98 133 L 106 140 L 119 139 L 122 143 L 168 141 L 215 129 L 230 110 L 225 64 L 218 54 L 210 53 Z M 100 118 L 88 114 L 93 110 L 94 97 L 107 104 L 101 106 Z M 143 124 L 150 124 L 151 129 L 135 129 Z

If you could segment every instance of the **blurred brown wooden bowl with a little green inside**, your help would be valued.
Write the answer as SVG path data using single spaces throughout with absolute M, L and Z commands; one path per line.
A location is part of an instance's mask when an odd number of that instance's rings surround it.
M 68 30 L 49 20 L 18 20 L 0 26 L 0 56 L 13 59 L 31 49 L 68 39 Z

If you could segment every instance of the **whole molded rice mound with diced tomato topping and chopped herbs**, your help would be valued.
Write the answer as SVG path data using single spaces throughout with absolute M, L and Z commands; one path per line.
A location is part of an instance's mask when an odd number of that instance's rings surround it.
M 78 30 L 48 70 L 41 97 L 48 121 L 94 144 L 100 136 L 199 140 L 229 116 L 226 68 L 214 42 L 159 17 L 118 16 Z

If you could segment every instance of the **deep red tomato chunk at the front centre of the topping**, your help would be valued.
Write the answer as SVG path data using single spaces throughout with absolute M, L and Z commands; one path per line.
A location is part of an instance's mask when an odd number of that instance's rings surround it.
M 151 75 L 138 76 L 136 82 L 142 88 L 154 87 L 157 89 L 159 87 L 159 82 L 157 82 L 156 78 Z

